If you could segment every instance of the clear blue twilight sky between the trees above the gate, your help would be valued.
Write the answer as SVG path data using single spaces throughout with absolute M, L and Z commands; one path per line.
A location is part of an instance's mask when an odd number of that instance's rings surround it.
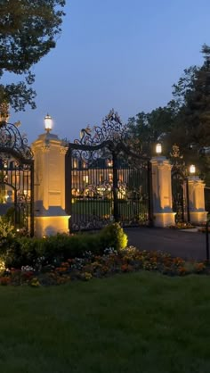
M 209 0 L 67 0 L 57 47 L 34 68 L 36 110 L 12 113 L 28 143 L 44 132 L 73 141 L 114 108 L 125 122 L 172 98 L 185 68 L 210 45 Z

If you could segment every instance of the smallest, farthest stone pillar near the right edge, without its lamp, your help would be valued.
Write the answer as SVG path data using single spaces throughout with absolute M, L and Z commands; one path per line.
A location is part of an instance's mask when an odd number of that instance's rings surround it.
M 198 176 L 188 178 L 190 223 L 200 224 L 207 220 L 204 188 L 205 183 Z

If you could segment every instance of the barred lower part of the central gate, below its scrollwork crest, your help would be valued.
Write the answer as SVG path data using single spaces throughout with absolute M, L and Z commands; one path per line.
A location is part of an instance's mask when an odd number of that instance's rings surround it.
M 149 225 L 149 162 L 128 160 L 122 151 L 103 145 L 91 151 L 70 147 L 70 231 L 102 228 L 111 221 L 123 227 Z

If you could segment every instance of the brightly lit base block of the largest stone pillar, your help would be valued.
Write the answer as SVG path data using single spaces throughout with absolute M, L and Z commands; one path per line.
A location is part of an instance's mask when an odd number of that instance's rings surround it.
M 69 234 L 69 215 L 35 217 L 35 236 L 55 236 L 57 233 Z

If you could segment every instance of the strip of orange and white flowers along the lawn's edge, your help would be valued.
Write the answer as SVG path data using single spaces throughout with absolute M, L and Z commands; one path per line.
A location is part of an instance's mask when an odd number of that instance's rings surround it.
M 104 278 L 116 273 L 137 270 L 158 271 L 169 276 L 184 276 L 190 273 L 210 274 L 207 262 L 184 261 L 169 253 L 139 251 L 133 246 L 116 251 L 105 249 L 102 255 L 85 252 L 82 258 L 55 261 L 54 265 L 22 266 L 21 269 L 3 269 L 0 284 L 3 286 L 52 286 L 73 280 L 88 281 Z

